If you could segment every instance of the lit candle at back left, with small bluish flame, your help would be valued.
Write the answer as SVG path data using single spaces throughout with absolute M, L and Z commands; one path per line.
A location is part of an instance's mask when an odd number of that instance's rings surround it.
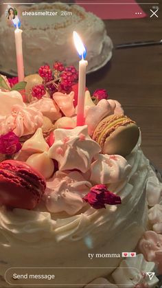
M 16 16 L 15 19 L 12 19 L 14 27 L 14 38 L 15 38 L 15 45 L 16 45 L 16 61 L 17 61 L 17 74 L 19 78 L 19 82 L 24 80 L 24 67 L 23 67 L 23 47 L 22 47 L 22 36 L 21 33 L 23 30 L 19 29 L 21 22 Z

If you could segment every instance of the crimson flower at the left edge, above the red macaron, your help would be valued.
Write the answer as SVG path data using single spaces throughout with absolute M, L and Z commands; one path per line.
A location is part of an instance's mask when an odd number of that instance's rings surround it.
M 19 137 L 14 132 L 8 132 L 0 136 L 0 153 L 12 155 L 21 149 Z

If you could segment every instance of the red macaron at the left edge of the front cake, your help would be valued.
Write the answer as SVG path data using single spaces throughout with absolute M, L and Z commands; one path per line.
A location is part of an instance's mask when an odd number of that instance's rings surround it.
M 0 163 L 0 206 L 33 209 L 46 188 L 44 177 L 25 162 Z

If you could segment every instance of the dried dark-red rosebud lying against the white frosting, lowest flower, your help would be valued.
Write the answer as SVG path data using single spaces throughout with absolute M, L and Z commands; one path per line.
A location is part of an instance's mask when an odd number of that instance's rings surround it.
M 106 185 L 102 184 L 93 186 L 83 199 L 95 209 L 106 208 L 105 204 L 117 205 L 122 203 L 119 196 L 108 191 Z

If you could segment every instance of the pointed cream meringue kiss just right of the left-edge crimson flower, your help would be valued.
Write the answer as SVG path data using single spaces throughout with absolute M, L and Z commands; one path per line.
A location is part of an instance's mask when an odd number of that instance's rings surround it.
M 26 151 L 30 155 L 33 153 L 40 153 L 48 151 L 49 146 L 43 137 L 43 131 L 38 128 L 34 135 L 23 143 L 22 151 Z

